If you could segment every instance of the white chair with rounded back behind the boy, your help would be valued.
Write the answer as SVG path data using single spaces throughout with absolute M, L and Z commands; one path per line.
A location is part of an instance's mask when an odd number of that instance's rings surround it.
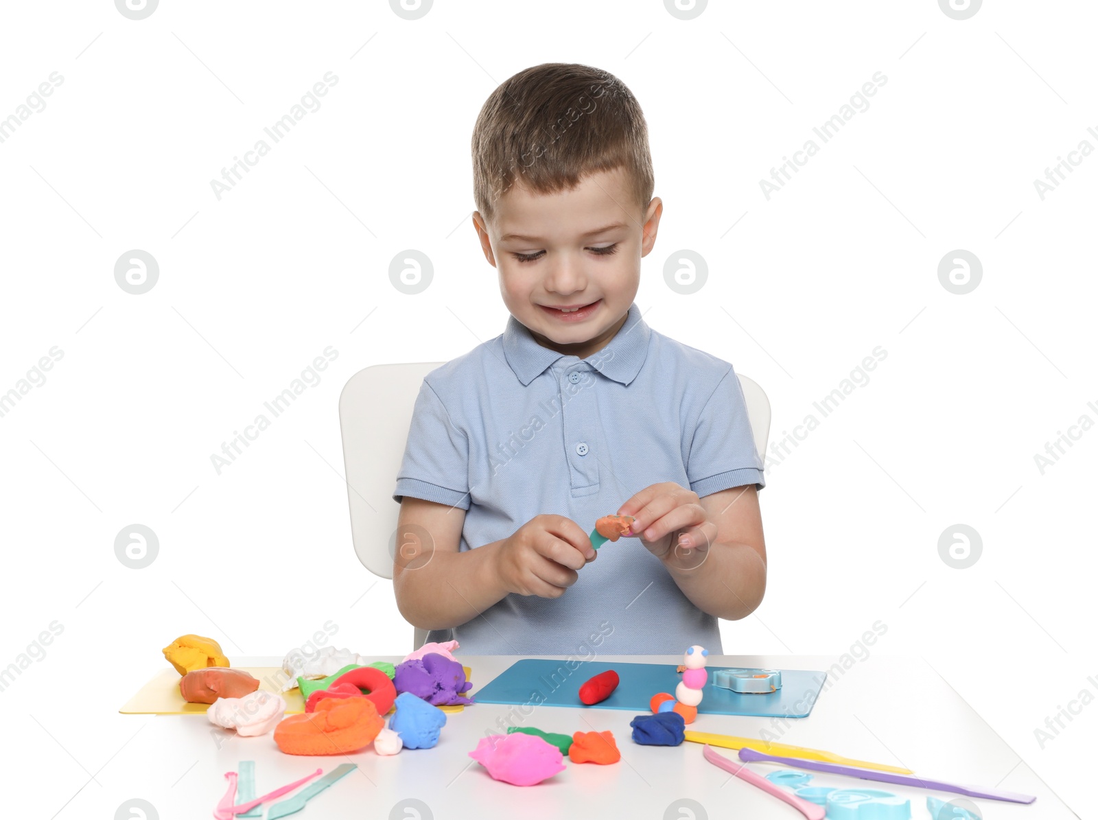
M 401 507 L 393 501 L 396 472 L 412 426 L 412 408 L 424 377 L 441 361 L 374 364 L 352 375 L 339 394 L 347 501 L 355 553 L 378 577 L 392 579 L 396 519 Z M 766 452 L 770 402 L 755 382 L 740 375 L 755 449 Z M 427 639 L 415 627 L 413 649 Z

